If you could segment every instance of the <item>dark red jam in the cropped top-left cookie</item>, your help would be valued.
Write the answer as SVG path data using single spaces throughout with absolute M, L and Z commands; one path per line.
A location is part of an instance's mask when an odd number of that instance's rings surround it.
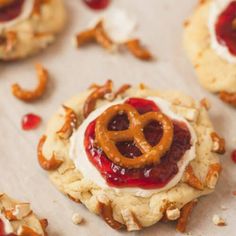
M 0 8 L 0 22 L 14 20 L 21 14 L 25 0 L 16 0 L 10 5 Z

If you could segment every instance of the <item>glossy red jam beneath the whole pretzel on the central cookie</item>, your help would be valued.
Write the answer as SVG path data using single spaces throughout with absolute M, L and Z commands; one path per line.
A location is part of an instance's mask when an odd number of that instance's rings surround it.
M 126 101 L 140 114 L 160 111 L 157 105 L 147 99 L 130 98 Z M 98 169 L 108 185 L 113 187 L 140 187 L 143 189 L 162 188 L 178 173 L 177 163 L 191 148 L 191 134 L 185 123 L 173 121 L 174 139 L 169 151 L 161 158 L 160 164 L 140 169 L 127 169 L 112 163 L 105 153 L 95 144 L 96 120 L 92 121 L 85 132 L 84 145 L 91 163 Z M 109 123 L 109 130 L 125 130 L 129 127 L 126 114 L 115 116 Z M 143 130 L 146 140 L 155 146 L 162 137 L 162 126 L 150 122 Z M 119 151 L 126 157 L 135 158 L 142 153 L 132 141 L 117 143 Z

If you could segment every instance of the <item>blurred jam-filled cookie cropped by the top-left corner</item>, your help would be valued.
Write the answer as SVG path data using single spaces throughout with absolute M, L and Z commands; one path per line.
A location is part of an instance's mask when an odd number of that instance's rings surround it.
M 14 0 L 0 7 L 0 60 L 22 59 L 46 48 L 65 21 L 62 0 Z

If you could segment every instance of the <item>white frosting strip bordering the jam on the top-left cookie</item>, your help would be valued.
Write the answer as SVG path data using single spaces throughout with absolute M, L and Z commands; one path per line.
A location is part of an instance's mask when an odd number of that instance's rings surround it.
M 21 21 L 27 19 L 30 16 L 30 14 L 32 13 L 34 1 L 35 0 L 25 0 L 25 2 L 23 3 L 22 11 L 21 11 L 20 15 L 11 21 L 1 22 L 0 23 L 0 31 L 8 29 L 8 28 L 20 23 Z

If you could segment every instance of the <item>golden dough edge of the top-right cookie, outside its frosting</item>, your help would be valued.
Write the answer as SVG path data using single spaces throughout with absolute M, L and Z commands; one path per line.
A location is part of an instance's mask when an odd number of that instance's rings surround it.
M 211 47 L 208 28 L 211 0 L 199 1 L 184 26 L 184 47 L 202 86 L 236 105 L 236 65 L 227 62 Z

